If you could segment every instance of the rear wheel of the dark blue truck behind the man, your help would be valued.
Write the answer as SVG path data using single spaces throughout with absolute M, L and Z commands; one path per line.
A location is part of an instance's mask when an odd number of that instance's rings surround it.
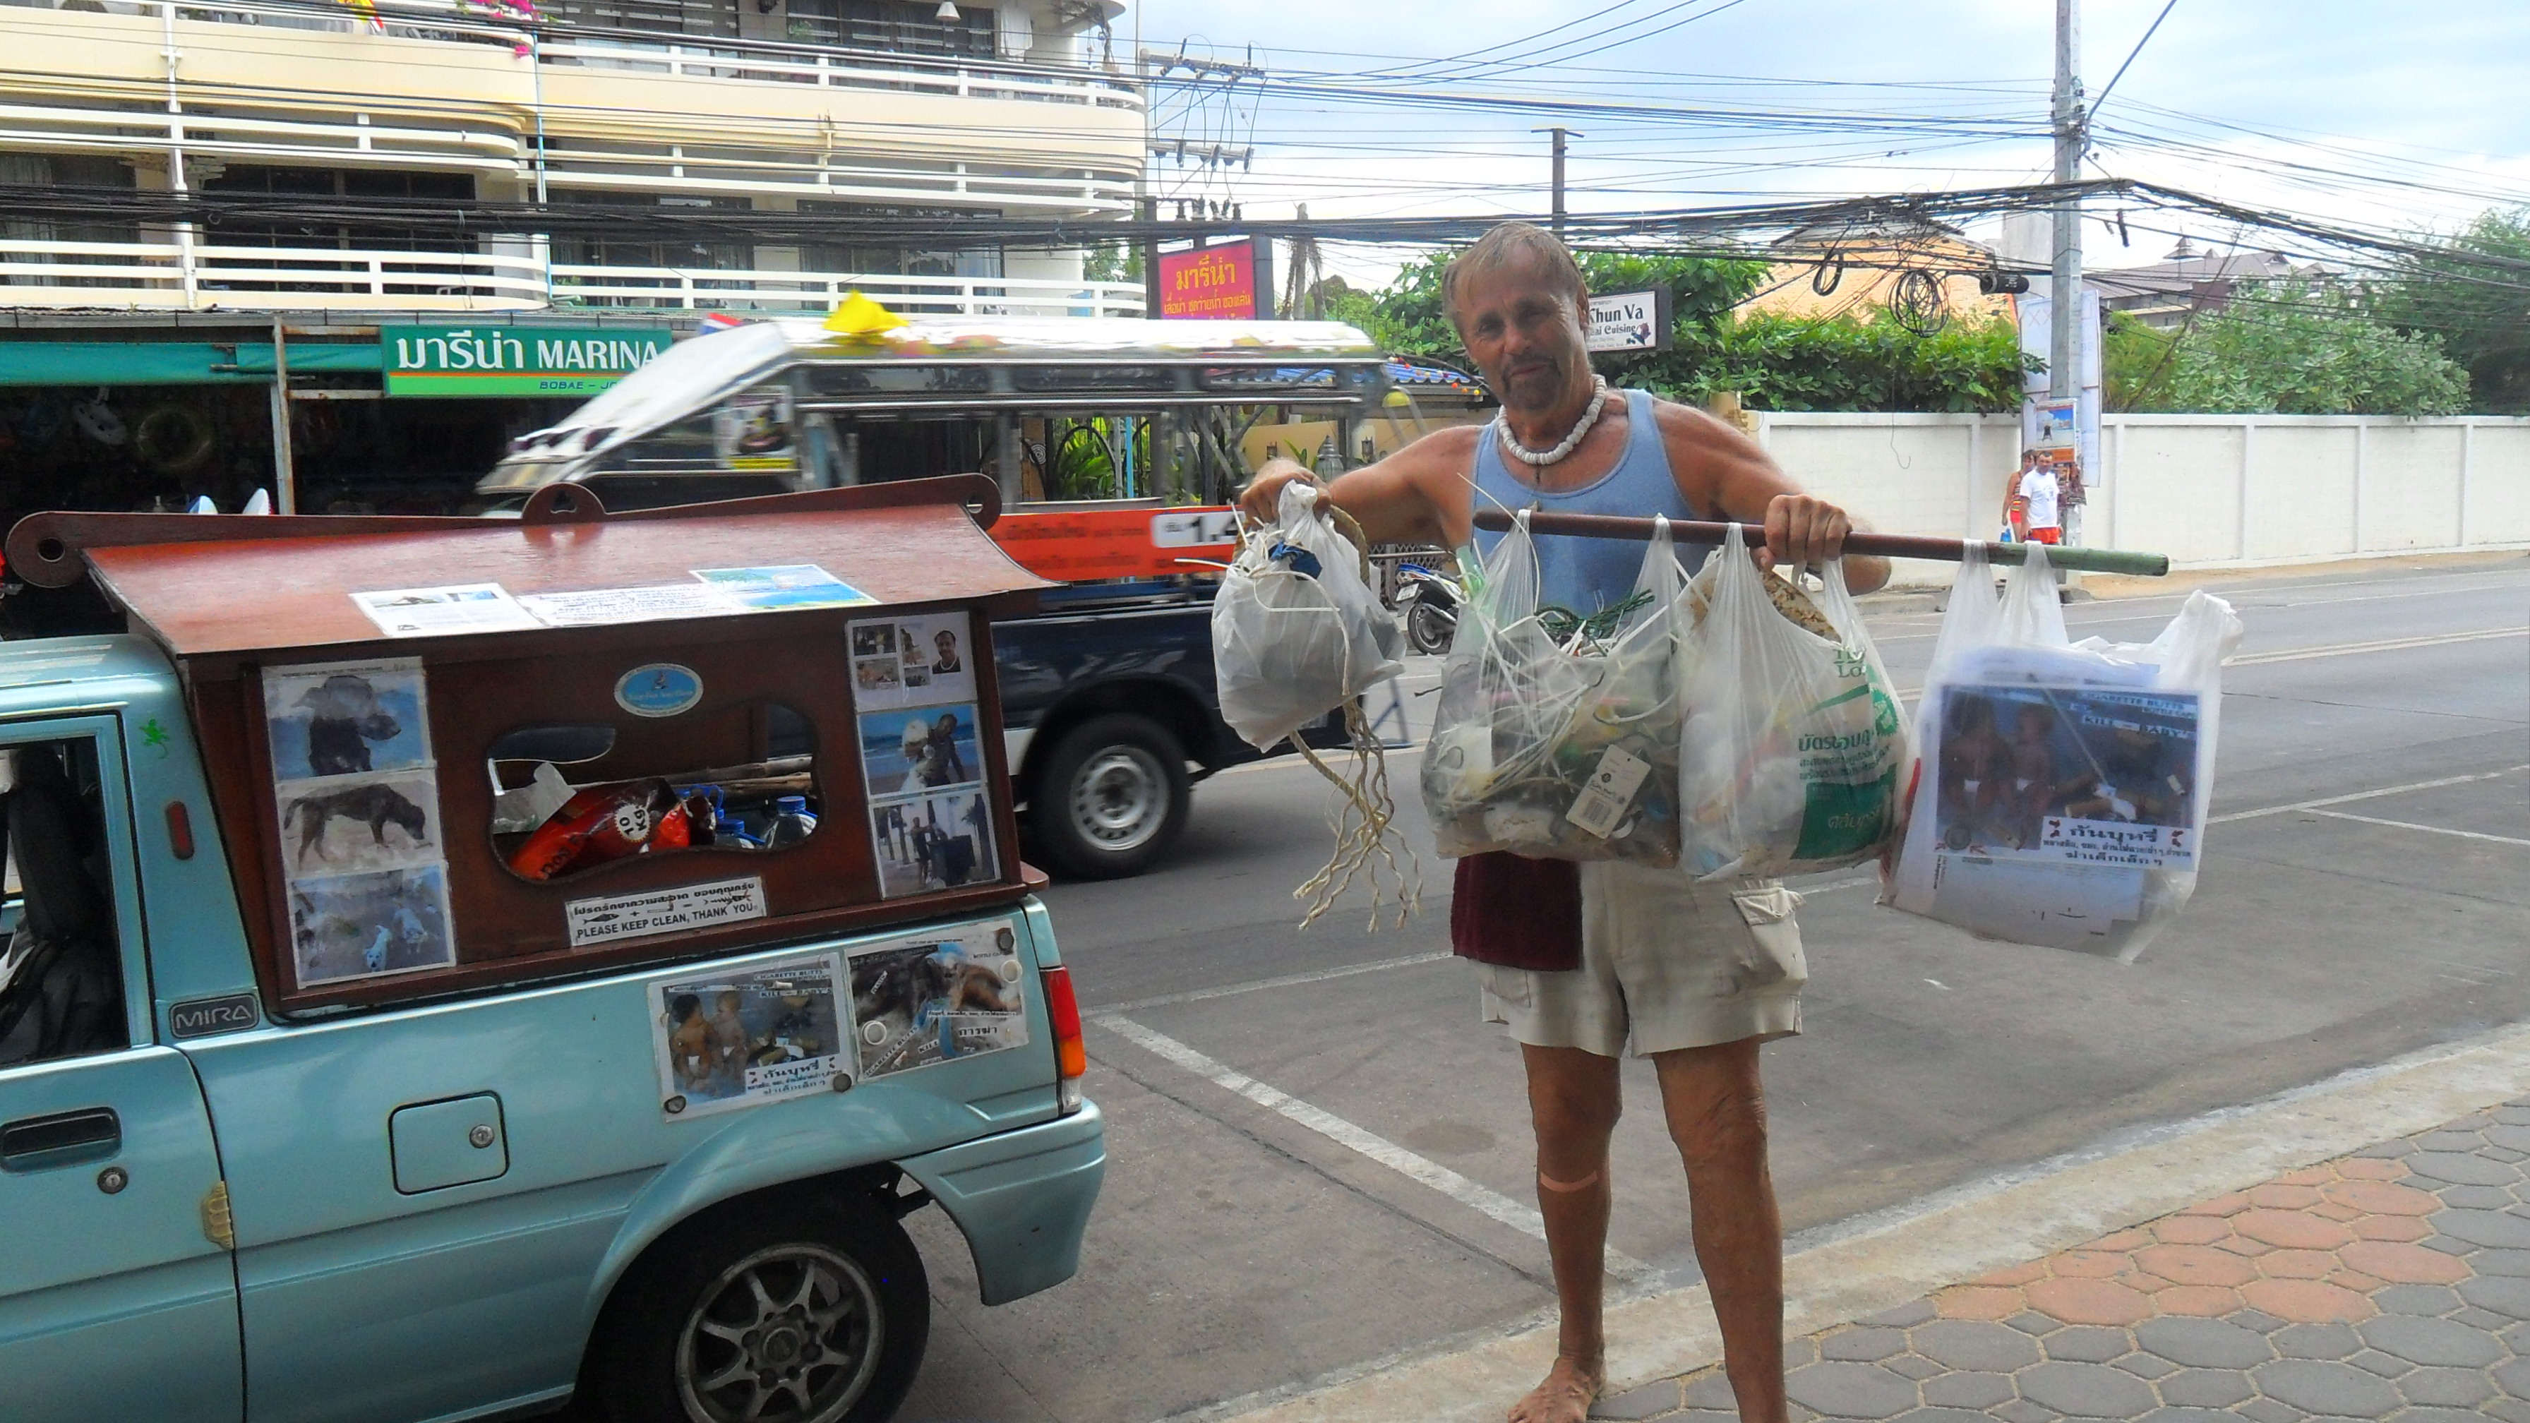
M 1187 749 L 1131 712 L 1108 712 L 1055 742 L 1027 795 L 1047 858 L 1080 879 L 1151 868 L 1187 828 Z

